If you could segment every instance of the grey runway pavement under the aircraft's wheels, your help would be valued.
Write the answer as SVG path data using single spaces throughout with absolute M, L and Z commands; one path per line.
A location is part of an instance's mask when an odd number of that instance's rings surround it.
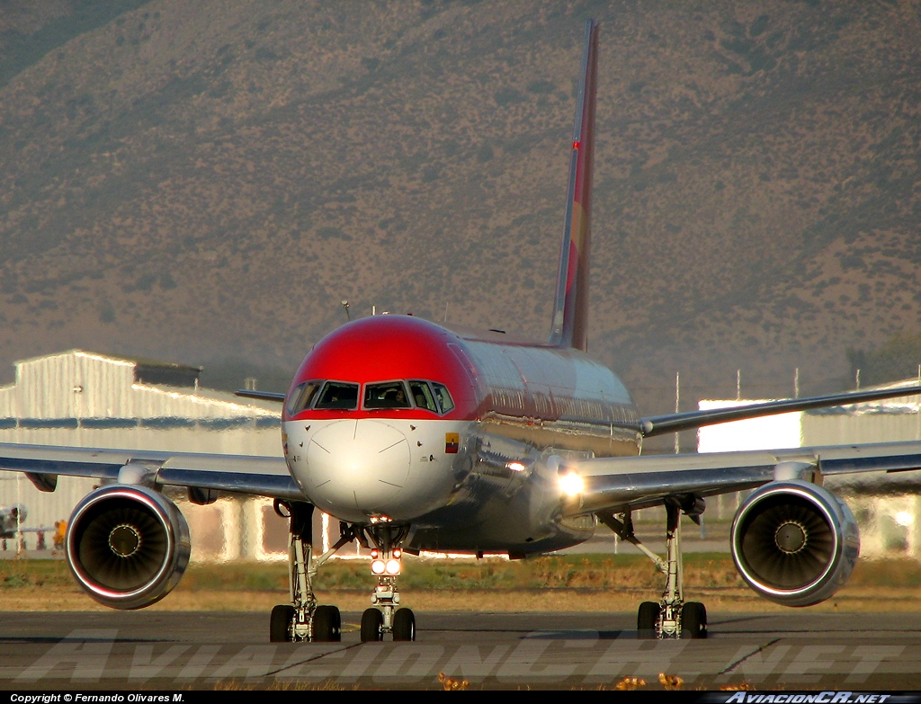
M 921 614 L 710 615 L 705 641 L 638 641 L 634 614 L 417 613 L 415 642 L 268 642 L 268 615 L 2 613 L 6 689 L 659 688 L 921 689 Z

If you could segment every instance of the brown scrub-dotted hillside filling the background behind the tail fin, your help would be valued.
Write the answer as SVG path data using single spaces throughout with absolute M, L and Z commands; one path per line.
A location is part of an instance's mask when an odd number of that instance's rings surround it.
M 591 350 L 647 410 L 678 370 L 688 404 L 737 368 L 840 387 L 847 347 L 918 332 L 916 3 L 14 5 L 4 365 L 293 368 L 344 298 L 543 337 L 589 16 Z

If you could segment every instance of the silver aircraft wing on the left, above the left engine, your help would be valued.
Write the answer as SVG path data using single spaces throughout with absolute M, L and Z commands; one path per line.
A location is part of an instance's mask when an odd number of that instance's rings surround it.
M 51 491 L 58 475 L 119 479 L 135 477 L 160 486 L 303 500 L 285 459 L 274 456 L 206 455 L 156 450 L 110 450 L 0 443 L 0 469 L 25 472 L 40 490 Z M 122 480 L 125 477 L 122 475 Z

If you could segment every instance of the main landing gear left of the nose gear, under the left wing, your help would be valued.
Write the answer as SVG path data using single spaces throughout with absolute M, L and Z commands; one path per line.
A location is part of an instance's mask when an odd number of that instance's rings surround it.
M 272 642 L 339 641 L 342 617 L 335 606 L 318 606 L 313 593 L 313 578 L 321 564 L 355 539 L 351 528 L 344 527 L 342 537 L 319 558 L 313 558 L 313 505 L 305 502 L 275 500 L 275 513 L 289 520 L 288 527 L 288 594 L 290 604 L 272 609 L 269 640 Z

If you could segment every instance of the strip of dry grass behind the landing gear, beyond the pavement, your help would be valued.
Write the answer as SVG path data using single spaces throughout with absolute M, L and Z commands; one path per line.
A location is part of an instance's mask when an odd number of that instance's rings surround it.
M 498 560 L 407 560 L 403 600 L 421 611 L 632 611 L 657 600 L 661 577 L 634 556 Z M 333 564 L 318 590 L 321 603 L 346 611 L 367 607 L 367 564 Z M 104 610 L 80 591 L 59 560 L 0 562 L 0 609 Z M 725 555 L 689 556 L 685 592 L 716 611 L 782 611 L 740 581 Z M 265 611 L 286 599 L 284 565 L 196 565 L 180 586 L 150 608 L 166 611 Z M 921 611 L 921 564 L 914 560 L 862 562 L 822 611 Z

